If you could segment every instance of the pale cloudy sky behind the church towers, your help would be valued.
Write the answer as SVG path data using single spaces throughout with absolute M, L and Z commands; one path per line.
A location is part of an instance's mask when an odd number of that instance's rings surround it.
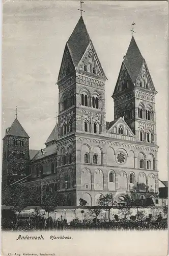
M 83 19 L 108 80 L 106 121 L 114 120 L 111 98 L 123 55 L 134 38 L 156 91 L 159 178 L 167 179 L 167 2 L 83 1 Z M 2 136 L 15 119 L 40 150 L 58 111 L 57 82 L 66 41 L 80 17 L 79 1 L 4 0 Z

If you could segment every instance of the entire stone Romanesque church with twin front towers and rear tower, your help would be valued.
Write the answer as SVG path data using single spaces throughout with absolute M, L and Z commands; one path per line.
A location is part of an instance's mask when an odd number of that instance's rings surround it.
M 157 197 L 157 92 L 133 36 L 114 85 L 111 122 L 106 122 L 106 79 L 81 16 L 63 53 L 57 124 L 45 148 L 29 159 L 29 136 L 19 132 L 16 118 L 4 138 L 3 176 L 15 175 L 15 161 L 19 183 L 41 196 L 58 193 L 67 206 L 78 206 L 80 198 L 97 205 L 107 193 L 124 204 Z M 16 149 L 24 158 L 14 157 Z

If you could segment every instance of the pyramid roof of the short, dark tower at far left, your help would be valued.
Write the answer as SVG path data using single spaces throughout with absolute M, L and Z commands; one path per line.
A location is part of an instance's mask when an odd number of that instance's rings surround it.
M 15 118 L 15 120 L 13 121 L 8 133 L 5 136 L 7 135 L 30 138 L 29 135 L 24 131 L 22 125 L 17 118 Z

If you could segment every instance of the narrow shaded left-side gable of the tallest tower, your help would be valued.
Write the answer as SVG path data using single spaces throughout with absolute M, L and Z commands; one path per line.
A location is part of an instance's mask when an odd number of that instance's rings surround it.
M 68 76 L 72 71 L 74 71 L 74 65 L 73 65 L 70 51 L 68 49 L 68 46 L 66 45 L 63 58 L 62 58 L 58 81 Z

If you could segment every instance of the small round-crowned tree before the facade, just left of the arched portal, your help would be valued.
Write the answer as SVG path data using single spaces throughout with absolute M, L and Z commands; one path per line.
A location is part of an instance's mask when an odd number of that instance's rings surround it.
M 106 194 L 98 200 L 98 206 L 101 206 L 103 210 L 108 211 L 108 221 L 110 221 L 110 209 L 116 204 L 117 202 L 112 194 Z

